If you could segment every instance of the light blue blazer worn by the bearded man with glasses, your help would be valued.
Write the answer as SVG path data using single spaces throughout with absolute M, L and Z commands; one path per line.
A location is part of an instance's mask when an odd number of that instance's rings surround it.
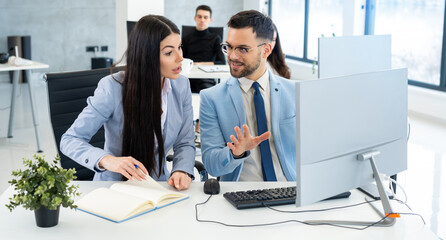
M 288 181 L 296 181 L 296 108 L 293 81 L 269 72 L 271 127 L 277 154 Z M 239 81 L 226 82 L 200 92 L 200 134 L 206 170 L 223 181 L 238 181 L 245 159 L 234 159 L 226 146 L 235 126 L 246 124 L 245 106 Z

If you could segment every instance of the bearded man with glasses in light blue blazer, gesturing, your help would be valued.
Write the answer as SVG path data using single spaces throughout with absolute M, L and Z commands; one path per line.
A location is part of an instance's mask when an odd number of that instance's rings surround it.
M 295 87 L 267 70 L 273 23 L 250 10 L 228 26 L 222 49 L 232 77 L 200 93 L 206 170 L 223 181 L 295 181 Z

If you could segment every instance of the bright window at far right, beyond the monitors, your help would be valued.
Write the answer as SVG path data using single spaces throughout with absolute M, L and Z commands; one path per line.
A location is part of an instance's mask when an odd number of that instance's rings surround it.
M 392 34 L 392 67 L 440 86 L 444 0 L 377 0 L 375 34 Z

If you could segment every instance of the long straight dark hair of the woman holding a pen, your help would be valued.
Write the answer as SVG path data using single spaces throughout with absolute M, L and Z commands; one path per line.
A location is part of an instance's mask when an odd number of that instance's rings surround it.
M 180 31 L 167 18 L 142 17 L 130 33 L 122 82 L 124 127 L 121 155 L 134 157 L 150 174 L 157 173 L 158 177 L 163 173 L 165 156 L 161 132 L 160 43 L 171 33 L 179 34 Z

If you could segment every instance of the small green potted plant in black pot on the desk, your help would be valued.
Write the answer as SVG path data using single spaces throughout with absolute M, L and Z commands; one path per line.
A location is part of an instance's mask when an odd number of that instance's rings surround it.
M 79 186 L 68 186 L 76 171 L 57 166 L 60 161 L 57 155 L 53 164 L 45 161 L 44 156 L 34 155 L 34 160 L 24 158 L 25 170 L 12 172 L 14 179 L 8 181 L 16 193 L 9 198 L 6 207 L 12 211 L 22 205 L 23 208 L 34 210 L 36 223 L 39 227 L 56 226 L 59 222 L 60 205 L 76 208 L 72 197 L 79 196 Z

